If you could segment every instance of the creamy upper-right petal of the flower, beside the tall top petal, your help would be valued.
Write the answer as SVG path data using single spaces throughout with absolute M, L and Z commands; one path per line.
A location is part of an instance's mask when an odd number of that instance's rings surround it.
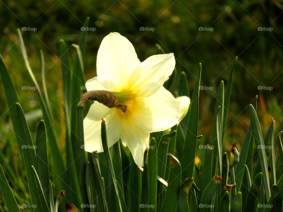
M 133 89 L 142 96 L 152 95 L 169 79 L 175 63 L 173 53 L 153 55 L 147 58 L 141 63 L 141 76 Z

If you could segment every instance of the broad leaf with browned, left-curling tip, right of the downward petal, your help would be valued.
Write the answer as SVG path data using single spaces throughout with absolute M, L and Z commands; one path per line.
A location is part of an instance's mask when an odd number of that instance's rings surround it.
M 179 160 L 171 153 L 167 153 L 167 157 L 171 160 L 171 174 L 168 187 L 165 193 L 162 212 L 177 211 L 179 189 L 182 183 L 182 168 Z

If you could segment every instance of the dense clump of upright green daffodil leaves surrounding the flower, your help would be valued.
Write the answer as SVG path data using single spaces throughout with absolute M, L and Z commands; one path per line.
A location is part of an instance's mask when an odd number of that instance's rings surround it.
M 84 26 L 88 26 L 88 19 Z M 255 101 L 254 106 L 249 106 L 251 124 L 247 129 L 241 151 L 233 147 L 231 150 L 233 157 L 230 158 L 231 152 L 225 151 L 225 145 L 228 145 L 225 131 L 226 127 L 229 127 L 227 125 L 229 105 L 233 102 L 233 99 L 230 101 L 230 96 L 233 92 L 236 60 L 231 68 L 226 91 L 224 81 L 221 81 L 215 97 L 214 119 L 211 120 L 213 124 L 210 132 L 211 145 L 202 145 L 202 143 L 198 147 L 198 143 L 203 139 L 202 136 L 198 136 L 202 72 L 200 65 L 190 109 L 187 118 L 184 119 L 185 125 L 181 122 L 164 132 L 151 134 L 150 146 L 144 154 L 144 167 L 137 167 L 128 149 L 120 146 L 120 141 L 113 147 L 108 147 L 105 121 L 101 123 L 104 153 L 93 152 L 86 155 L 84 151 L 83 117 L 91 103 L 86 103 L 85 111 L 83 105 L 77 106 L 77 103 L 81 94 L 85 92 L 81 86 L 85 85 L 83 61 L 86 32 L 82 32 L 79 45 L 74 45 L 76 55 L 73 68 L 68 48 L 65 42 L 60 40 L 65 125 L 67 126 L 63 133 L 65 138 L 62 139 L 65 140 L 66 146 L 64 154 L 61 154 L 63 151 L 60 150 L 58 142 L 60 139 L 52 124 L 45 78 L 42 79 L 42 95 L 29 65 L 21 34 L 19 31 L 18 33 L 26 68 L 34 85 L 38 88 L 37 95 L 41 101 L 44 121 L 39 122 L 36 139 L 33 139 L 34 136 L 27 122 L 27 114 L 24 114 L 19 104 L 13 80 L 1 57 L 0 73 L 14 133 L 17 137 L 19 154 L 23 156 L 23 171 L 26 176 L 22 180 L 17 179 L 19 176 L 9 170 L 9 164 L 1 155 L 2 153 L 0 154 L 0 159 L 3 161 L 3 166 L 1 161 L 0 170 L 0 189 L 3 195 L 1 209 L 20 211 L 21 207 L 28 206 L 27 211 L 63 211 L 63 204 L 60 204 L 60 201 L 66 192 L 64 207 L 67 211 L 250 212 L 258 210 L 261 206 L 264 207 L 264 211 L 271 211 L 272 206 L 282 210 L 283 176 L 280 173 L 282 170 L 276 169 L 278 156 L 275 148 L 279 147 L 279 158 L 282 162 L 283 125 L 281 124 L 279 133 L 276 135 L 276 125 L 272 119 L 270 132 L 264 140 Z M 157 50 L 159 53 L 163 51 L 160 46 L 157 46 Z M 42 51 L 40 55 L 41 73 L 44 76 Z M 178 83 L 179 85 L 176 86 Z M 178 75 L 175 69 L 174 75 L 165 86 L 174 91 L 172 92 L 174 94 L 179 92 L 181 95 L 189 96 L 189 84 L 184 72 Z M 267 145 L 269 137 L 271 138 L 270 152 L 262 148 Z M 259 164 L 254 169 L 249 166 L 254 151 L 253 138 L 257 152 L 255 157 Z M 8 151 L 9 148 L 11 148 L 9 144 L 5 143 L 4 151 Z M 266 155 L 269 155 L 270 164 L 267 162 Z M 278 166 L 281 167 L 281 165 Z M 250 167 L 251 170 L 249 170 Z M 258 173 L 253 178 L 250 173 L 255 170 Z M 269 174 L 272 177 L 272 188 L 270 188 Z M 13 183 L 14 180 L 17 180 L 17 183 Z M 53 196 L 53 188 L 59 193 L 56 199 Z M 259 211 L 262 210 L 259 209 Z

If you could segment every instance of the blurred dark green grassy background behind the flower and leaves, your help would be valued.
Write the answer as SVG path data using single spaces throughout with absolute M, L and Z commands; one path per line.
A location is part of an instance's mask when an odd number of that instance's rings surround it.
M 34 85 L 25 68 L 16 32 L 17 28 L 36 27 L 36 31 L 22 30 L 22 35 L 40 86 L 39 51 L 44 52 L 47 91 L 61 148 L 65 145 L 65 117 L 59 40 L 66 41 L 73 59 L 75 48 L 71 45 L 77 43 L 86 17 L 90 17 L 89 27 L 96 29 L 88 32 L 84 61 L 87 80 L 96 76 L 97 51 L 103 37 L 110 32 L 126 36 L 141 61 L 155 54 L 155 44 L 165 53 L 173 52 L 178 73 L 184 71 L 187 75 L 191 95 L 198 63 L 202 63 L 201 85 L 214 88 L 200 91 L 199 134 L 203 134 L 201 141 L 205 143 L 210 142 L 218 85 L 221 80 L 226 85 L 231 63 L 239 56 L 226 129 L 226 150 L 230 151 L 234 142 L 238 142 L 240 149 L 250 120 L 247 106 L 255 95 L 259 95 L 258 114 L 264 134 L 271 117 L 277 121 L 277 127 L 282 121 L 282 5 L 282 0 L 1 0 L 0 53 L 9 67 L 30 129 L 35 132 L 42 119 L 40 102 L 36 92 L 22 90 L 22 86 Z M 154 28 L 154 31 L 141 31 L 140 27 Z M 199 27 L 213 28 L 213 31 L 200 31 Z M 259 31 L 258 27 L 271 27 L 272 31 Z M 178 80 L 174 85 L 178 87 Z M 258 86 L 272 87 L 272 90 L 258 90 Z M 5 156 L 2 157 L 16 160 L 17 144 L 11 130 L 3 83 L 0 89 L 0 149 L 10 142 L 11 147 L 3 150 Z M 174 87 L 171 91 L 173 93 Z M 8 155 L 10 150 L 15 154 Z

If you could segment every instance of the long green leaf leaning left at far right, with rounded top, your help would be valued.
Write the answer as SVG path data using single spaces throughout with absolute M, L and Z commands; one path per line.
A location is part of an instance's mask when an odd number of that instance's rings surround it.
M 259 119 L 256 115 L 256 111 L 252 105 L 250 105 L 250 114 L 251 114 L 251 125 L 253 128 L 253 135 L 257 146 L 257 152 L 259 154 L 259 162 L 261 165 L 261 171 L 263 172 L 263 184 L 264 190 L 266 194 L 266 198 L 270 198 L 270 186 L 269 186 L 269 174 L 268 174 L 268 167 L 266 161 L 266 154 L 265 149 L 260 148 L 264 147 L 264 141 L 261 133 L 261 129 L 259 126 Z

